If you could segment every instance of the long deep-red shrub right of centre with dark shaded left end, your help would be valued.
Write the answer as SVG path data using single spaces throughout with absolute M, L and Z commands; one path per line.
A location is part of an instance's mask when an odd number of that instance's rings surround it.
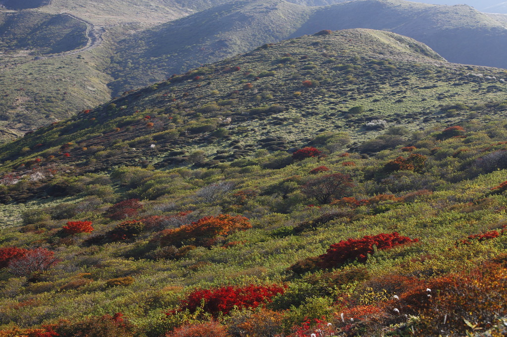
M 381 233 L 374 236 L 364 236 L 360 239 L 342 240 L 332 244 L 328 251 L 319 256 L 320 266 L 322 268 L 339 267 L 347 261 L 357 260 L 358 262 L 366 262 L 369 254 L 375 251 L 374 246 L 379 250 L 389 249 L 397 245 L 417 242 L 419 239 L 411 239 L 400 234 Z

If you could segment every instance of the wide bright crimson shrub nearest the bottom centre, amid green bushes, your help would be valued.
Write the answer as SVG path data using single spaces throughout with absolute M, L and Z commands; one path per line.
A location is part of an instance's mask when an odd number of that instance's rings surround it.
M 272 302 L 271 298 L 284 292 L 285 286 L 278 284 L 250 284 L 243 287 L 229 285 L 211 289 L 196 289 L 181 302 L 180 310 L 188 309 L 193 313 L 201 307 L 201 303 L 204 301 L 204 311 L 212 315 L 220 312 L 227 315 L 234 308 L 255 309 L 267 302 Z

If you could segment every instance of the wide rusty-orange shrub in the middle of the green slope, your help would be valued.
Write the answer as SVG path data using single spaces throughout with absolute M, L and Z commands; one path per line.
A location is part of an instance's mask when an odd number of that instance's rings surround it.
M 182 246 L 187 244 L 210 246 L 217 236 L 226 236 L 240 230 L 251 228 L 247 218 L 221 214 L 216 217 L 205 217 L 188 225 L 162 231 L 160 243 L 163 246 Z

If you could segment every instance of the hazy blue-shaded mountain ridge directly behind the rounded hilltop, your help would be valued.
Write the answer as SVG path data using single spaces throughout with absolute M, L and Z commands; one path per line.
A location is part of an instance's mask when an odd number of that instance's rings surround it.
M 203 22 L 205 29 L 200 29 Z M 308 8 L 276 0 L 236 1 L 122 40 L 123 48 L 112 60 L 115 67 L 111 71 L 119 79 L 110 86 L 118 93 L 263 42 L 322 29 L 359 27 L 413 37 L 451 62 L 507 67 L 503 57 L 507 52 L 507 29 L 468 6 L 360 0 Z

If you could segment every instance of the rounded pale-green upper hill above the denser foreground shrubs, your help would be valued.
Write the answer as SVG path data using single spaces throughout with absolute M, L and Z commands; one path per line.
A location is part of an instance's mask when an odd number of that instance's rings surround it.
M 211 165 L 265 148 L 261 140 L 268 135 L 284 139 L 267 141 L 274 142 L 268 149 L 279 150 L 325 130 L 343 129 L 363 139 L 371 119 L 387 125 L 403 120 L 411 128 L 421 121 L 459 120 L 466 115 L 446 114 L 440 107 L 501 100 L 507 88 L 504 76 L 499 69 L 449 64 L 401 35 L 344 30 L 265 46 L 127 92 L 5 146 L 2 158 L 16 167 L 27 153 L 31 158 L 56 156 L 62 163 L 102 170 L 141 157 L 158 165 L 184 162 L 186 157 L 179 155 L 202 150 L 198 161 Z M 356 106 L 364 107 L 363 114 L 349 113 Z M 272 130 L 273 123 L 283 126 Z M 224 140 L 219 135 L 229 136 Z M 242 143 L 243 151 L 228 147 L 233 140 Z M 64 146 L 68 142 L 73 145 Z M 118 150 L 103 151 L 115 144 Z M 61 146 L 68 157 L 61 157 Z M 91 164 L 93 153 L 100 160 Z

